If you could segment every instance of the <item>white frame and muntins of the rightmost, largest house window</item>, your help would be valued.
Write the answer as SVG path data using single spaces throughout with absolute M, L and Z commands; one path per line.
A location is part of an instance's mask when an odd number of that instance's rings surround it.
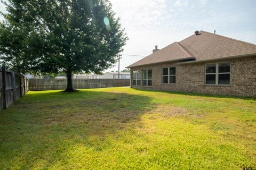
M 229 63 L 229 72 L 219 73 L 219 64 L 221 63 Z M 207 64 L 215 64 L 215 73 L 206 73 L 206 65 Z M 206 84 L 206 75 L 215 74 L 215 84 Z M 219 74 L 229 74 L 229 84 L 219 84 Z M 206 63 L 204 66 L 204 84 L 206 86 L 230 86 L 231 85 L 231 63 L 228 62 L 217 62 L 217 63 Z

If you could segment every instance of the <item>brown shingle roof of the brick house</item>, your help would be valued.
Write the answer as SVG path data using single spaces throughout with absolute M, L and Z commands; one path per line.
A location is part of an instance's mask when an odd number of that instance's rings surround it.
M 194 58 L 196 61 L 256 54 L 256 45 L 200 31 L 127 67 Z

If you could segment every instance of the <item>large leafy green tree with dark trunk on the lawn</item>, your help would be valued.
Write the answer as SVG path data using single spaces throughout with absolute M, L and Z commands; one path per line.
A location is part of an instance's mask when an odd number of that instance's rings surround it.
M 0 22 L 1 64 L 18 72 L 109 68 L 127 37 L 108 0 L 9 0 Z

